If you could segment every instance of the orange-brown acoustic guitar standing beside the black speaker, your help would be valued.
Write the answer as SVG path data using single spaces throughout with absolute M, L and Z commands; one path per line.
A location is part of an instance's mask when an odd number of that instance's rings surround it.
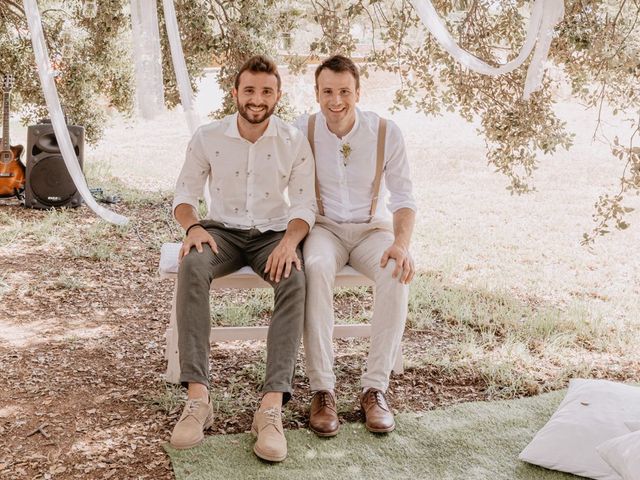
M 9 96 L 13 77 L 5 75 L 2 81 L 2 150 L 0 150 L 0 197 L 20 198 L 24 190 L 25 167 L 20 157 L 24 147 L 9 143 Z

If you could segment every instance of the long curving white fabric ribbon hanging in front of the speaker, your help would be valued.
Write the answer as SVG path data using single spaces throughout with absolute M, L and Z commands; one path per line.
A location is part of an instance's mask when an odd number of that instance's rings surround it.
M 53 126 L 53 131 L 56 134 L 62 158 L 67 166 L 67 170 L 69 170 L 69 175 L 78 189 L 78 192 L 80 192 L 80 195 L 91 210 L 111 223 L 126 225 L 129 222 L 126 217 L 118 215 L 117 213 L 98 205 L 87 187 L 73 144 L 71 143 L 71 138 L 69 137 L 69 130 L 67 129 L 67 123 L 62 113 L 62 108 L 60 107 L 58 91 L 56 89 L 56 84 L 53 81 L 54 72 L 49 59 L 47 44 L 44 40 L 42 19 L 40 18 L 40 12 L 38 11 L 36 0 L 24 0 L 24 10 L 27 14 L 33 52 L 36 57 L 36 65 L 38 67 L 40 83 L 42 84 L 42 91 L 44 92 L 44 98 L 47 103 L 47 108 L 49 109 L 49 116 L 51 117 L 51 125 Z

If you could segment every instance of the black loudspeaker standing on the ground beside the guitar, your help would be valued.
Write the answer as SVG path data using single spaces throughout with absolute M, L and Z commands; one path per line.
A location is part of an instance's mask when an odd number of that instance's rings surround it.
M 80 168 L 84 160 L 84 127 L 67 125 Z M 27 172 L 24 203 L 30 208 L 79 207 L 82 197 L 69 175 L 51 123 L 27 128 Z

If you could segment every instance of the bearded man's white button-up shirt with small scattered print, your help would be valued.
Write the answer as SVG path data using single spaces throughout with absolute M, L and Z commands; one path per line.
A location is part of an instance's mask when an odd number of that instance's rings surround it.
M 315 222 L 313 155 L 305 135 L 272 116 L 251 143 L 240 136 L 238 114 L 200 127 L 189 142 L 176 183 L 173 210 L 198 207 L 208 177 L 207 219 L 238 229 L 286 230 L 300 218 Z

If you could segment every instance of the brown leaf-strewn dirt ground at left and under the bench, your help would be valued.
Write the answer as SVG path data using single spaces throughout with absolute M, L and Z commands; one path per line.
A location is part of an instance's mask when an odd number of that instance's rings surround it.
M 3 208 L 24 222 L 47 216 Z M 151 209 L 118 210 L 138 222 L 138 230 L 144 231 L 145 222 L 147 227 L 163 223 Z M 95 223 L 86 208 L 69 215 L 78 238 Z M 114 260 L 106 261 L 79 258 L 55 245 L 30 248 L 28 240 L 6 249 L 4 284 L 12 288 L 0 306 L 1 478 L 172 478 L 162 449 L 180 414 L 178 391 L 167 390 L 162 379 L 172 281 L 159 280 L 158 250 L 144 240 L 144 234 L 129 231 Z M 62 283 L 61 272 L 81 284 Z M 408 364 L 424 342 L 448 341 L 438 330 L 436 325 L 432 331 L 408 332 Z M 213 347 L 215 398 L 230 404 L 219 408 L 213 433 L 249 430 L 263 350 L 261 342 Z M 336 351 L 344 421 L 360 418 L 357 385 L 365 351 L 366 342 L 356 340 L 339 342 Z M 307 421 L 308 384 L 301 368 L 298 373 L 297 394 L 286 408 L 287 428 L 304 428 Z M 396 410 L 419 411 L 483 399 L 484 390 L 479 378 L 409 367 L 393 377 L 389 401 Z

